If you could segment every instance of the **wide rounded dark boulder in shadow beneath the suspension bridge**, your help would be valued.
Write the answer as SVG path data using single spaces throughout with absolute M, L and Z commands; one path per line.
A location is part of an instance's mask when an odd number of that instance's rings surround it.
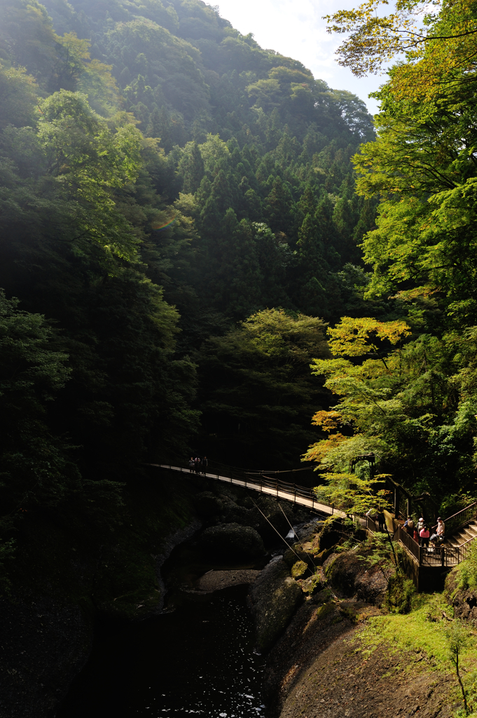
M 262 538 L 255 528 L 238 523 L 210 526 L 198 543 L 207 554 L 220 559 L 258 559 L 265 554 Z

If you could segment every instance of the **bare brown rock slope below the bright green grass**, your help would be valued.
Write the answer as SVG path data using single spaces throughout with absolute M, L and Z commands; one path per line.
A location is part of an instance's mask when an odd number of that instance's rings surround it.
M 360 628 L 347 620 L 332 630 L 323 624 L 317 645 L 304 666 L 295 668 L 283 704 L 270 718 L 395 718 L 415 714 L 451 718 L 459 706 L 450 674 L 436 676 L 420 654 L 396 653 L 392 646 L 371 656 L 356 650 Z M 340 627 L 341 628 L 340 629 Z M 338 635 L 336 635 L 338 634 Z M 436 680 L 438 677 L 438 680 Z

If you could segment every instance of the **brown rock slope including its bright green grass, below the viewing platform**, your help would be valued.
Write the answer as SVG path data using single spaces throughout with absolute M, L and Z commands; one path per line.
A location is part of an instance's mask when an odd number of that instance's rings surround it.
M 460 667 L 471 704 L 477 595 L 459 587 L 459 569 L 448 576 L 445 592 L 414 595 L 400 609 L 406 613 L 389 612 L 379 567 L 369 567 L 355 551 L 331 551 L 321 569 L 326 587 L 306 597 L 268 653 L 267 718 L 460 714 L 463 698 L 449 658 L 449 630 L 453 617 L 468 625 Z

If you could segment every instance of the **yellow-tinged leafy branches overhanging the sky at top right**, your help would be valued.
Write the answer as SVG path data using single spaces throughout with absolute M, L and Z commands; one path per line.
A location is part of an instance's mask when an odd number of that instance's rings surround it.
M 356 9 L 327 15 L 328 32 L 349 34 L 339 47 L 339 64 L 358 77 L 376 73 L 396 55 L 407 62 L 395 68 L 390 86 L 396 98 L 435 98 L 471 73 L 477 36 L 475 4 L 468 0 L 399 0 L 382 14 L 387 0 L 367 0 Z

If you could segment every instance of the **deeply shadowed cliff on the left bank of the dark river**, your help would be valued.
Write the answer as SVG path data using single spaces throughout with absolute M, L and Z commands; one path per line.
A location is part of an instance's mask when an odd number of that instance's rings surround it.
M 0 718 L 55 715 L 88 659 L 95 616 L 137 620 L 161 610 L 161 564 L 201 523 L 194 485 L 153 479 L 155 487 L 145 477 L 124 493 L 114 521 L 24 520 L 11 593 L 0 603 Z

